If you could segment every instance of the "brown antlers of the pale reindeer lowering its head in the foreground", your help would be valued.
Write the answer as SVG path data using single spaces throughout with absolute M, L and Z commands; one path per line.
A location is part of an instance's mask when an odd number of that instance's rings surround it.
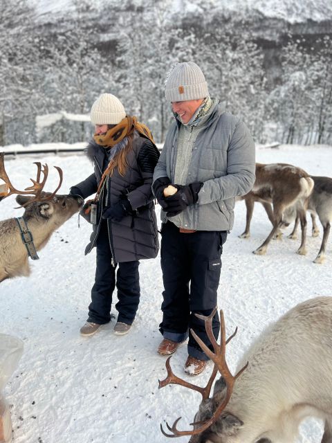
M 181 417 L 178 417 L 178 419 L 175 420 L 172 427 L 170 427 L 166 423 L 168 430 L 171 431 L 172 434 L 165 433 L 165 431 L 163 430 L 163 426 L 160 424 L 161 432 L 166 437 L 181 437 L 182 435 L 196 435 L 196 434 L 199 434 L 199 433 L 205 431 L 205 429 L 207 429 L 214 422 L 216 422 L 216 419 L 219 417 L 219 415 L 221 415 L 223 409 L 228 404 L 228 401 L 230 401 L 230 397 L 232 395 L 232 390 L 233 390 L 235 380 L 242 374 L 242 372 L 248 366 L 248 363 L 246 363 L 246 365 L 243 366 L 243 368 L 241 370 L 239 370 L 239 372 L 236 375 L 233 376 L 231 374 L 230 370 L 228 369 L 228 365 L 225 361 L 225 347 L 226 347 L 226 344 L 235 336 L 235 334 L 237 334 L 237 329 L 235 329 L 234 334 L 232 334 L 232 336 L 230 336 L 230 338 L 228 338 L 228 340 L 226 341 L 226 339 L 225 339 L 225 320 L 223 318 L 223 311 L 220 310 L 220 332 L 221 332 L 220 341 L 221 341 L 221 343 L 219 345 L 217 343 L 216 339 L 214 338 L 214 335 L 212 332 L 212 318 L 214 317 L 214 314 L 216 314 L 216 307 L 214 308 L 214 310 L 210 314 L 210 316 L 201 316 L 199 314 L 195 314 L 196 317 L 201 318 L 201 320 L 204 320 L 205 330 L 208 334 L 210 342 L 213 345 L 214 352 L 212 352 L 208 348 L 208 346 L 205 345 L 205 343 L 203 343 L 201 338 L 199 338 L 199 336 L 197 336 L 195 334 L 195 332 L 192 329 L 190 329 L 196 342 L 199 343 L 199 345 L 201 346 L 201 349 L 214 362 L 214 368 L 213 368 L 211 377 L 208 381 L 208 384 L 205 386 L 205 388 L 201 388 L 200 386 L 196 386 L 192 383 L 188 383 L 187 381 L 176 377 L 176 375 L 174 375 L 172 372 L 172 368 L 169 363 L 169 360 L 171 359 L 171 357 L 169 357 L 166 361 L 167 377 L 166 377 L 166 379 L 159 381 L 159 388 L 163 388 L 163 386 L 166 386 L 167 384 L 170 384 L 170 383 L 178 384 L 178 385 L 185 386 L 187 388 L 190 388 L 190 389 L 200 392 L 203 397 L 203 400 L 205 400 L 205 399 L 208 399 L 210 396 L 210 390 L 212 387 L 212 383 L 216 377 L 216 373 L 219 371 L 221 373 L 221 375 L 223 376 L 223 379 L 225 380 L 225 383 L 226 383 L 227 391 L 226 391 L 225 398 L 223 399 L 221 404 L 219 404 L 218 408 L 216 408 L 216 410 L 214 411 L 214 414 L 212 415 L 212 417 L 210 419 L 206 420 L 205 422 L 192 423 L 191 424 L 192 426 L 199 425 L 199 427 L 197 427 L 196 429 L 193 429 L 192 431 L 178 431 L 178 429 L 176 428 L 176 425 L 178 424 L 178 421 L 181 419 Z

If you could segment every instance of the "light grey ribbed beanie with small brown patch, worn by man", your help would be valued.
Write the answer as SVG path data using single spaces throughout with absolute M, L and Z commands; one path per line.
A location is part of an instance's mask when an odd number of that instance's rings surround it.
M 194 62 L 172 66 L 165 82 L 165 96 L 170 102 L 184 102 L 208 97 L 208 83 L 201 68 Z

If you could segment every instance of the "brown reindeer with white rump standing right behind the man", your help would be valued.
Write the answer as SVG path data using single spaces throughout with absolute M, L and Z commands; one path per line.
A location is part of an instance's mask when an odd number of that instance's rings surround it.
M 280 237 L 279 228 L 283 224 L 288 225 L 289 219 L 293 217 L 293 213 L 296 213 L 302 228 L 302 242 L 297 253 L 305 255 L 306 208 L 312 190 L 313 179 L 301 168 L 286 163 L 271 163 L 269 165 L 256 163 L 254 187 L 242 197 L 246 201 L 247 220 L 246 230 L 240 237 L 249 237 L 254 204 L 255 201 L 260 201 L 273 224 L 273 229 L 263 244 L 253 252 L 258 255 L 265 254 L 270 240 L 273 237 Z M 270 204 L 273 204 L 273 210 Z

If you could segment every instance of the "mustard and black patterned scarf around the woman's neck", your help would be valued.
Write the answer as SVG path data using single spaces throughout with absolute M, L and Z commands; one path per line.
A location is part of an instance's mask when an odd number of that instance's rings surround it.
M 100 146 L 113 147 L 122 141 L 124 137 L 133 134 L 135 129 L 154 143 L 150 129 L 143 123 L 139 123 L 136 117 L 131 116 L 124 117 L 118 125 L 109 129 L 106 134 L 95 134 L 93 140 Z

